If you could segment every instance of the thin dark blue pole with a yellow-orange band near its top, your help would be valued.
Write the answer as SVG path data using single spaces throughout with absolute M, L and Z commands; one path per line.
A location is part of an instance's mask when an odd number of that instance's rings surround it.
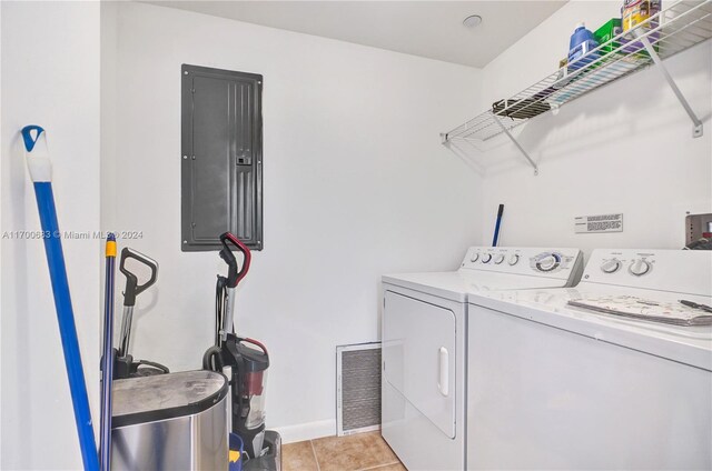
M 99 457 L 101 471 L 111 467 L 111 384 L 113 379 L 113 265 L 116 264 L 116 237 L 107 236 L 107 274 L 103 299 L 103 355 L 101 357 L 101 424 Z

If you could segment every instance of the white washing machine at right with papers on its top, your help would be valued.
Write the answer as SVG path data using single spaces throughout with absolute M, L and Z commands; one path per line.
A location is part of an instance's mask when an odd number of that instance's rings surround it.
M 467 469 L 712 469 L 712 327 L 621 315 L 709 314 L 679 300 L 712 305 L 711 252 L 595 250 L 576 288 L 471 293 Z

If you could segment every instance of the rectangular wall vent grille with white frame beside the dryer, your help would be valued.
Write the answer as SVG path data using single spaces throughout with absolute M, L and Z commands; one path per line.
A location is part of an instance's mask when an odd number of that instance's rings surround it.
M 338 437 L 380 428 L 380 342 L 336 348 Z

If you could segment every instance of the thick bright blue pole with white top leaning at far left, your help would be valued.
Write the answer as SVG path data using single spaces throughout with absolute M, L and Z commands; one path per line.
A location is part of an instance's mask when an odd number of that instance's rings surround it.
M 32 131 L 34 131 L 34 136 L 32 136 Z M 28 126 L 22 129 L 22 138 L 27 151 L 28 169 L 34 182 L 34 194 L 37 197 L 37 207 L 40 213 L 40 223 L 44 240 L 44 252 L 47 253 L 49 274 L 52 282 L 55 308 L 57 310 L 57 320 L 59 321 L 59 333 L 62 350 L 65 351 L 65 365 L 69 378 L 69 389 L 75 409 L 75 421 L 77 422 L 77 432 L 79 434 L 81 459 L 86 471 L 97 471 L 99 469 L 99 457 L 97 455 L 97 443 L 91 425 L 91 411 L 89 409 L 85 372 L 81 367 L 81 353 L 77 339 L 75 313 L 69 295 L 69 282 L 67 280 L 67 268 L 65 267 L 61 233 L 59 232 L 55 196 L 52 193 L 52 166 L 47 151 L 44 130 L 39 126 Z

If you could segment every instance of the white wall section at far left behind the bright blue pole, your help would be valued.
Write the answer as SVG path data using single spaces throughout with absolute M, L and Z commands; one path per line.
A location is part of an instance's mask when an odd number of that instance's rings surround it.
M 1 232 L 40 229 L 19 130 L 41 124 L 60 229 L 99 229 L 99 6 L 1 2 Z M 81 458 L 40 240 L 2 238 L 1 469 L 79 469 Z M 98 423 L 97 240 L 65 240 L 89 399 Z

